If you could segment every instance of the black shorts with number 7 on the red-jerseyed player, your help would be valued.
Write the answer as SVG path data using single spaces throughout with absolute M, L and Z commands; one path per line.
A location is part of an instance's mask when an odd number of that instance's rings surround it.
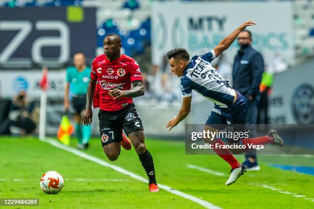
M 100 110 L 98 117 L 102 147 L 113 142 L 120 143 L 122 130 L 127 135 L 134 131 L 143 130 L 142 120 L 134 103 L 117 111 Z

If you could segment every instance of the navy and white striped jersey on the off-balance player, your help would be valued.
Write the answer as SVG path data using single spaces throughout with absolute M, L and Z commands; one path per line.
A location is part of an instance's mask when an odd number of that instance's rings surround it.
M 194 90 L 219 107 L 227 108 L 233 103 L 235 91 L 212 67 L 211 61 L 214 58 L 213 50 L 193 56 L 181 78 L 181 91 L 183 97 L 189 97 Z

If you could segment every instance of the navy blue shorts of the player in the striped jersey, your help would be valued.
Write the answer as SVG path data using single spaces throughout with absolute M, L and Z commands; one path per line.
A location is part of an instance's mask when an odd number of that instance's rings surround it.
M 215 128 L 215 124 L 246 123 L 246 113 L 248 109 L 246 99 L 238 91 L 235 92 L 237 92 L 237 100 L 228 108 L 220 108 L 218 105 L 215 105 L 208 116 L 206 125 Z

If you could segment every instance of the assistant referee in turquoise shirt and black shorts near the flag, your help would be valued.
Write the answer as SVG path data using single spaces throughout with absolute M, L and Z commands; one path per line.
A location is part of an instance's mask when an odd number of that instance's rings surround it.
M 73 93 L 72 107 L 75 111 L 75 132 L 78 139 L 77 148 L 85 150 L 89 145 L 91 126 L 82 125 L 81 114 L 86 106 L 86 92 L 91 69 L 86 66 L 85 55 L 83 53 L 74 54 L 73 62 L 74 66 L 67 68 L 64 109 L 68 111 L 70 107 L 69 91 L 71 85 L 71 92 Z

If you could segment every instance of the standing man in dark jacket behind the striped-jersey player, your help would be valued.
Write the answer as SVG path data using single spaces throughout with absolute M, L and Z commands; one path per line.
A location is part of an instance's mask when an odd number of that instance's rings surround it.
M 260 101 L 260 83 L 264 70 L 262 55 L 251 47 L 251 32 L 243 30 L 238 36 L 240 50 L 235 55 L 232 80 L 233 89 L 245 96 L 248 104 L 246 116 L 247 124 L 256 124 L 258 117 L 258 103 Z M 250 151 L 245 155 L 243 163 L 247 170 L 260 170 L 257 162 L 256 151 Z

